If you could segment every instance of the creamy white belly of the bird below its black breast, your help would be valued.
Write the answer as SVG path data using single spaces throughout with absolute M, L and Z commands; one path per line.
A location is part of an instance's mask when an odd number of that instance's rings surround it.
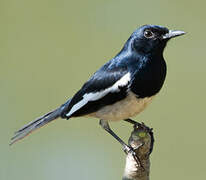
M 89 116 L 107 121 L 127 119 L 143 111 L 153 97 L 154 96 L 138 99 L 134 93 L 129 93 L 125 99 L 112 105 L 105 106 Z

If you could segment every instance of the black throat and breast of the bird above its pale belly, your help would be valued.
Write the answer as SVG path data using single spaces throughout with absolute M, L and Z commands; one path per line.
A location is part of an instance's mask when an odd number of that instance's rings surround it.
M 167 71 L 166 62 L 162 53 L 140 57 L 139 61 L 142 63 L 141 69 L 138 69 L 134 75 L 131 90 L 139 98 L 151 97 L 163 86 Z

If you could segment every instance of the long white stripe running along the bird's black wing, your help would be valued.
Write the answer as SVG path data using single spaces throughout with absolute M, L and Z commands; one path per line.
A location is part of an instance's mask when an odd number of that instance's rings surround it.
M 79 101 L 77 104 L 75 104 L 71 108 L 71 110 L 66 114 L 66 116 L 69 117 L 71 114 L 73 114 L 75 111 L 79 110 L 81 107 L 83 107 L 89 101 L 96 101 L 98 99 L 101 99 L 109 92 L 115 92 L 115 91 L 118 92 L 119 86 L 126 86 L 130 80 L 131 80 L 131 77 L 130 77 L 130 73 L 128 72 L 120 80 L 118 80 L 113 86 L 111 86 L 105 90 L 99 91 L 99 92 L 95 92 L 95 93 L 91 92 L 88 94 L 84 94 L 83 99 L 81 101 Z

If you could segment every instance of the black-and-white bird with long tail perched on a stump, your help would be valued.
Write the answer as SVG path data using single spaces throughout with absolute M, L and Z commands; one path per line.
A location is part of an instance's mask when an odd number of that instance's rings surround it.
M 73 97 L 15 132 L 10 145 L 55 119 L 87 116 L 100 119 L 101 127 L 126 153 L 135 153 L 114 133 L 109 122 L 137 123 L 131 118 L 150 104 L 164 84 L 167 67 L 163 51 L 167 42 L 183 34 L 184 31 L 159 25 L 137 28 L 120 52 L 98 69 Z

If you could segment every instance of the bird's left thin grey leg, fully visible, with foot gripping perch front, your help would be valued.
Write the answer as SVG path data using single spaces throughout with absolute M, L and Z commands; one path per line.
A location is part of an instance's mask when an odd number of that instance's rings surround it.
M 138 166 L 141 166 L 141 162 L 136 154 L 136 152 L 134 151 L 134 149 L 130 146 L 128 146 L 122 139 L 120 139 L 110 128 L 109 124 L 107 121 L 105 120 L 100 120 L 99 124 L 101 125 L 101 127 L 106 130 L 109 134 L 111 134 L 123 147 L 123 150 L 126 154 L 131 153 L 133 158 L 135 159 L 135 161 L 137 162 Z

